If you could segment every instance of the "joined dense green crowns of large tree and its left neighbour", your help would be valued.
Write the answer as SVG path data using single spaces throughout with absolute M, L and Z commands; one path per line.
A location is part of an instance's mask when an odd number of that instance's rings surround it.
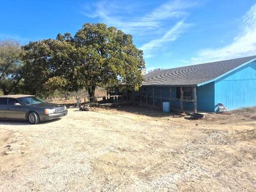
M 145 67 L 143 53 L 132 36 L 105 24 L 85 23 L 74 37 L 66 33 L 56 39 L 30 42 L 22 47 L 23 90 L 44 95 L 86 88 L 91 98 L 95 87 L 123 85 L 138 90 Z

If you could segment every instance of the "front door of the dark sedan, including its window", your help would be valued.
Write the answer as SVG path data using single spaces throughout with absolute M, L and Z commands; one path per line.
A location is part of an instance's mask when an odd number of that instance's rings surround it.
M 25 119 L 26 108 L 17 99 L 8 98 L 5 116 L 9 119 Z

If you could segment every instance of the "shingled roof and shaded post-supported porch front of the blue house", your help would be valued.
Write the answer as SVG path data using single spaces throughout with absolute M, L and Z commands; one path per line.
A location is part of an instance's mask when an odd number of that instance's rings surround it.
M 256 62 L 255 55 L 148 73 L 143 76 L 140 103 L 162 108 L 162 102 L 169 101 L 171 107 L 179 106 L 181 112 L 188 108 L 197 113 L 197 108 L 207 108 L 203 106 L 211 106 L 210 110 L 214 110 L 214 87 L 218 86 L 216 82 L 253 61 Z

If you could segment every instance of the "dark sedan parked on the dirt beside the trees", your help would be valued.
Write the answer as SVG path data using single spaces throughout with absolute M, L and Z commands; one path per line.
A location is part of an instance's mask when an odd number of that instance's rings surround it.
M 47 103 L 34 95 L 0 96 L 0 119 L 27 120 L 37 124 L 67 114 L 66 106 Z

